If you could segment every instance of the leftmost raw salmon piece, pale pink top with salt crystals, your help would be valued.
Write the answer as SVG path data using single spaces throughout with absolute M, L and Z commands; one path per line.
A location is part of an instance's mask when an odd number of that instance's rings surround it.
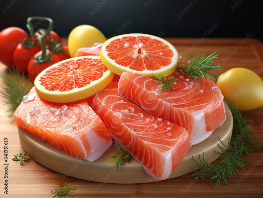
M 39 98 L 33 87 L 13 119 L 18 127 L 48 144 L 89 162 L 98 159 L 112 145 L 107 128 L 85 99 L 52 103 Z

